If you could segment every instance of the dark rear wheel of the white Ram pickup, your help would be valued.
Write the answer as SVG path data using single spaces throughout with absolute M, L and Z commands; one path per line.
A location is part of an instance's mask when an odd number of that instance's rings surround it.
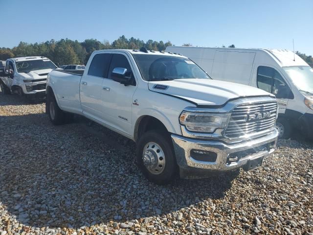
M 54 95 L 50 95 L 46 102 L 50 121 L 53 125 L 61 125 L 67 122 L 66 114 L 59 108 Z

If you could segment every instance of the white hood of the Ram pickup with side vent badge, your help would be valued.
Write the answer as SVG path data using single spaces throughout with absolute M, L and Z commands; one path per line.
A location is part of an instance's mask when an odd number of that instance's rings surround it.
M 255 87 L 212 79 L 153 81 L 148 86 L 150 91 L 173 95 L 197 105 L 223 105 L 229 99 L 246 96 L 275 97 Z

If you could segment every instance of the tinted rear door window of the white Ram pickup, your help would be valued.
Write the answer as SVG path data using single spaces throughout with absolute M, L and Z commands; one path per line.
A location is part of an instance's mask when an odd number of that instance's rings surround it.
M 108 77 L 108 69 L 110 64 L 111 54 L 101 53 L 96 54 L 90 63 L 88 75 L 96 77 Z

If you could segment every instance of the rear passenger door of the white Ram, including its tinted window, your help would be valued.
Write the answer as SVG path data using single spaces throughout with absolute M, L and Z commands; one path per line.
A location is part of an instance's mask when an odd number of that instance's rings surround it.
M 80 82 L 80 100 L 85 115 L 103 122 L 102 83 L 108 76 L 111 53 L 94 54 Z

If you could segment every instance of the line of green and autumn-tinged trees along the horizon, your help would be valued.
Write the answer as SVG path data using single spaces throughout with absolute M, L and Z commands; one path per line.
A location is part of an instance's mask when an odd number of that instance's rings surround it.
M 0 48 L 0 60 L 6 60 L 13 57 L 21 56 L 45 56 L 59 65 L 68 64 L 87 64 L 87 61 L 94 50 L 101 49 L 139 49 L 146 47 L 148 50 L 165 50 L 166 47 L 173 46 L 170 41 L 153 41 L 144 42 L 134 37 L 126 38 L 124 35 L 114 40 L 100 42 L 96 39 L 86 39 L 84 42 L 73 41 L 70 39 L 61 39 L 60 41 L 50 40 L 45 43 L 25 43 L 20 42 L 17 47 Z M 175 46 L 175 45 L 174 45 Z M 185 43 L 182 46 L 191 47 L 192 44 Z M 225 47 L 222 45 L 222 47 Z M 235 47 L 230 45 L 228 47 Z M 313 67 L 313 57 L 296 51 L 303 60 Z

